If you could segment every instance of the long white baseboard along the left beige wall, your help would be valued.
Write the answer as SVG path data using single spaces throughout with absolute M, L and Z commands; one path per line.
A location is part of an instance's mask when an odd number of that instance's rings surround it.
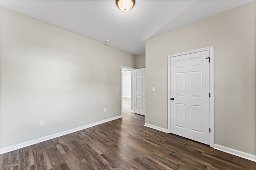
M 38 138 L 38 139 L 34 139 L 34 140 L 31 140 L 31 141 L 27 141 L 27 142 L 24 142 L 24 143 L 13 145 L 13 146 L 10 146 L 10 147 L 5 147 L 5 148 L 0 149 L 0 154 L 4 154 L 4 153 L 7 153 L 7 152 L 10 152 L 10 151 L 13 151 L 13 150 L 28 147 L 30 145 L 34 145 L 36 143 L 44 142 L 44 141 L 54 139 L 56 137 L 60 137 L 60 136 L 67 135 L 67 134 L 70 134 L 70 133 L 74 133 L 76 131 L 80 131 L 80 130 L 87 129 L 87 128 L 92 127 L 92 126 L 100 125 L 100 124 L 106 123 L 108 121 L 119 119 L 121 117 L 122 117 L 122 115 L 119 115 L 119 116 L 116 116 L 116 117 L 112 117 L 112 118 L 109 118 L 109 119 L 105 119 L 105 120 L 102 120 L 102 121 L 91 123 L 89 125 L 84 125 L 84 126 L 77 127 L 77 128 L 74 128 L 74 129 L 70 129 L 70 130 L 67 130 L 67 131 L 63 131 L 63 132 L 60 132 L 60 133 L 55 133 L 55 134 L 52 134 L 52 135 L 49 135 L 49 136 L 46 136 L 46 137 L 41 137 L 41 138 Z

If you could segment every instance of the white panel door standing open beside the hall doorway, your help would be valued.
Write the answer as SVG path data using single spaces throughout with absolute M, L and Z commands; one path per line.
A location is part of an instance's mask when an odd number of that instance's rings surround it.
M 146 68 L 134 70 L 134 113 L 146 115 Z

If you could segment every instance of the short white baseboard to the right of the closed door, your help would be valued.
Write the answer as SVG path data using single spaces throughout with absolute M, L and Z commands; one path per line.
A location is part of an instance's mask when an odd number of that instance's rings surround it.
M 256 162 L 256 155 L 253 155 L 253 154 L 248 154 L 246 152 L 241 152 L 239 150 L 231 149 L 228 147 L 223 147 L 223 146 L 217 145 L 217 144 L 214 144 L 214 149 L 221 150 L 223 152 L 227 152 L 229 154 L 233 154 L 233 155 Z

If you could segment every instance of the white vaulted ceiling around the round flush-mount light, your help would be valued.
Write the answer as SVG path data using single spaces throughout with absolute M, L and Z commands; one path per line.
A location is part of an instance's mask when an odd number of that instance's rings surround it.
M 147 39 L 252 1 L 135 0 L 129 12 L 116 0 L 0 0 L 0 6 L 138 55 Z

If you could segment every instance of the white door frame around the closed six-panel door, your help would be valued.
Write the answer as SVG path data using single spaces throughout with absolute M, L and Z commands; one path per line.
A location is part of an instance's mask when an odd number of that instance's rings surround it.
M 197 53 L 201 51 L 207 51 L 209 50 L 210 54 L 210 147 L 214 147 L 214 46 L 211 47 L 205 47 L 202 49 L 196 49 L 192 51 L 186 51 L 183 53 L 177 53 L 177 54 L 172 54 L 168 55 L 168 133 L 171 133 L 171 123 L 170 123 L 170 61 L 171 57 L 176 57 L 180 55 L 186 55 L 186 54 L 191 54 L 191 53 Z

